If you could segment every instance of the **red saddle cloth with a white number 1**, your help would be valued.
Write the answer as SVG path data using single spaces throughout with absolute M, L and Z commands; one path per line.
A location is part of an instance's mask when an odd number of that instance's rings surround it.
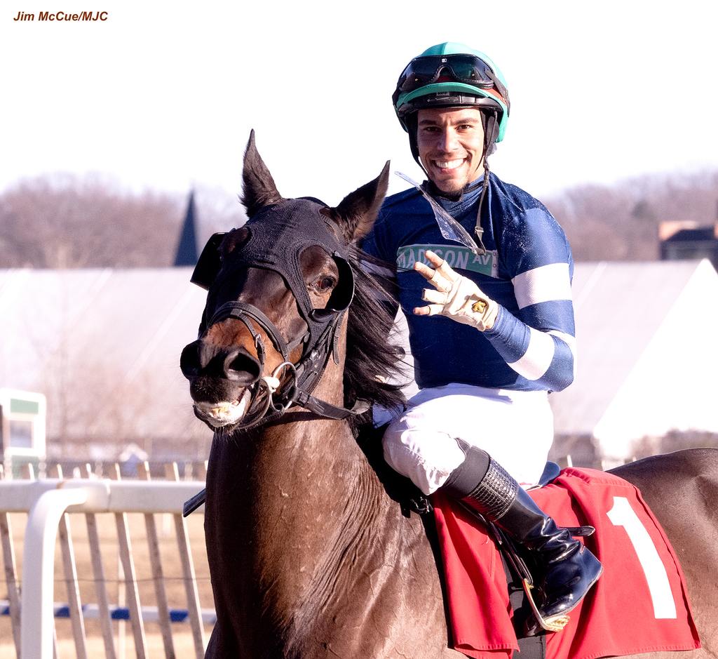
M 603 471 L 564 469 L 553 483 L 531 490 L 531 497 L 561 526 L 596 527 L 584 541 L 604 566 L 567 627 L 547 635 L 547 659 L 700 647 L 681 566 L 638 489 Z M 510 657 L 518 643 L 493 540 L 440 491 L 432 503 L 452 648 L 474 658 Z

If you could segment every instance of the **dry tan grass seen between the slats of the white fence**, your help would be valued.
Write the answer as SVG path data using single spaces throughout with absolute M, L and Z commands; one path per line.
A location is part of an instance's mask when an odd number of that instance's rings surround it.
M 80 599 L 83 604 L 98 602 L 95 591 L 93 568 L 90 563 L 90 549 L 88 544 L 87 527 L 85 515 L 70 515 L 70 528 L 77 561 L 78 582 L 80 586 Z M 142 606 L 157 606 L 157 599 L 152 579 L 149 549 L 146 541 L 146 530 L 144 515 L 129 514 L 126 516 L 129 522 L 130 537 L 132 544 L 132 556 L 136 578 L 139 584 L 139 598 Z M 101 554 L 105 571 L 105 579 L 108 589 L 108 596 L 111 604 L 118 603 L 121 597 L 121 586 L 118 580 L 118 541 L 115 515 L 96 515 L 98 531 L 100 534 Z M 174 533 L 174 520 L 171 515 L 154 515 L 157 532 L 159 535 L 160 555 L 162 558 L 162 569 L 164 572 L 164 585 L 167 590 L 167 601 L 170 608 L 187 609 L 187 596 L 185 594 L 185 581 L 182 578 L 182 564 L 180 553 L 177 549 L 177 538 Z M 10 515 L 11 528 L 14 536 L 15 556 L 17 560 L 18 579 L 22 575 L 22 533 L 24 531 L 27 515 Z M 200 607 L 212 609 L 212 589 L 210 587 L 209 569 L 205 551 L 204 516 L 195 512 L 185 520 L 190 534 L 190 545 L 192 548 L 192 559 L 195 565 L 197 577 L 197 589 L 200 594 Z M 6 584 L 4 579 L 0 581 L 0 599 L 7 599 Z M 55 602 L 67 602 L 67 589 L 65 586 L 64 571 L 62 568 L 62 555 L 60 545 L 57 544 L 55 551 Z M 125 628 L 125 654 L 119 654 L 118 659 L 136 656 L 132 629 L 129 622 L 123 625 L 113 622 L 118 647 L 118 628 Z M 76 656 L 73 632 L 68 619 L 58 619 L 55 624 L 57 630 L 57 657 L 58 659 L 70 659 Z M 101 635 L 99 622 L 86 620 L 85 629 L 88 636 L 88 655 L 93 659 L 105 657 L 105 650 Z M 205 625 L 205 644 L 209 638 L 211 626 Z M 150 658 L 164 657 L 162 635 L 157 623 L 146 623 L 146 645 L 147 656 Z M 174 652 L 178 658 L 191 658 L 195 656 L 192 643 L 192 632 L 188 623 L 172 624 L 172 637 Z M 7 616 L 0 617 L 0 659 L 15 659 L 15 649 L 12 642 L 12 631 L 10 619 Z

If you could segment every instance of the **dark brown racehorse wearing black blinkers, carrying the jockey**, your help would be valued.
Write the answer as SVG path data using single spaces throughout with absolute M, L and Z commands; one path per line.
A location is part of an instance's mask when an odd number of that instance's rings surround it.
M 208 299 L 180 361 L 214 431 L 205 538 L 217 622 L 205 658 L 462 657 L 448 647 L 424 520 L 402 514 L 357 441 L 370 426 L 361 401 L 401 405 L 392 318 L 356 247 L 387 182 L 388 163 L 336 207 L 284 199 L 252 133 L 248 224 L 213 236 L 195 269 Z M 613 472 L 640 488 L 670 538 L 702 642 L 640 656 L 717 657 L 718 451 Z

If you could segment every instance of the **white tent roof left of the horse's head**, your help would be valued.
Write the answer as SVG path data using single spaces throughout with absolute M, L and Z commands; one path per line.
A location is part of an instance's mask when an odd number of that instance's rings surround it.
M 0 385 L 47 395 L 49 438 L 206 438 L 179 367 L 205 297 L 190 274 L 0 270 Z

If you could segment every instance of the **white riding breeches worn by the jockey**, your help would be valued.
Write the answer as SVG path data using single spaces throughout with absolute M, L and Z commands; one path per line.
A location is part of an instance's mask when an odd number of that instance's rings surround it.
M 464 461 L 456 438 L 482 448 L 525 487 L 536 484 L 554 441 L 548 395 L 470 384 L 423 389 L 386 429 L 384 458 L 431 494 Z

